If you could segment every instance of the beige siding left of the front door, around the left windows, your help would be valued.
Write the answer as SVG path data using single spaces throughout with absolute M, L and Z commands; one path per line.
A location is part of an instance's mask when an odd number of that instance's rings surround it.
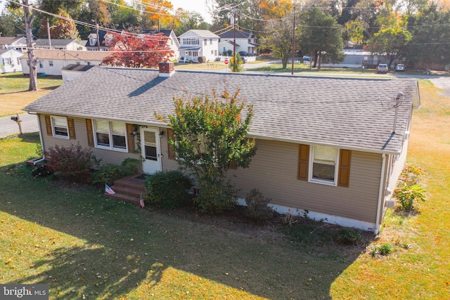
M 64 117 L 64 116 L 62 116 Z M 127 157 L 140 159 L 139 153 L 126 153 L 126 152 L 118 152 L 113 150 L 105 150 L 100 148 L 89 147 L 87 140 L 87 131 L 86 131 L 86 119 L 81 118 L 73 118 L 75 125 L 75 136 L 76 139 L 67 140 L 64 138 L 53 138 L 53 136 L 48 136 L 46 133 L 46 123 L 45 123 L 45 115 L 39 115 L 39 121 L 41 124 L 41 132 L 42 139 L 44 141 L 45 150 L 49 150 L 49 148 L 54 147 L 55 145 L 60 145 L 64 147 L 69 147 L 71 144 L 82 146 L 82 148 L 91 148 L 93 154 L 100 159 L 101 164 L 121 164 L 123 160 Z M 138 164 L 138 171 L 142 171 L 141 164 Z

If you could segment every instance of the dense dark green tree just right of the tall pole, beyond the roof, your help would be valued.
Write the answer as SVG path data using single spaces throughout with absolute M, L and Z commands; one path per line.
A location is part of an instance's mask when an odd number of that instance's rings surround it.
M 335 63 L 344 59 L 342 29 L 333 16 L 313 7 L 303 11 L 300 19 L 300 45 L 303 53 L 311 53 L 313 67 L 319 62 L 320 68 L 322 60 Z

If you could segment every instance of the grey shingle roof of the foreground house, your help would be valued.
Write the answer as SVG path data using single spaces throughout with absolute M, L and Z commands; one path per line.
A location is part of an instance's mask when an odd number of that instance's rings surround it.
M 250 136 L 293 143 L 399 153 L 418 95 L 416 79 L 349 79 L 93 67 L 24 108 L 73 117 L 164 126 L 173 98 L 240 89 L 254 108 Z M 394 105 L 397 130 L 392 134 Z M 417 100 L 417 98 L 416 98 Z

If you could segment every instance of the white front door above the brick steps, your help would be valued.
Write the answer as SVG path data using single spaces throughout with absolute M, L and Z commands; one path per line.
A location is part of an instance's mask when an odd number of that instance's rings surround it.
M 141 128 L 142 169 L 145 174 L 161 171 L 160 135 L 156 128 Z

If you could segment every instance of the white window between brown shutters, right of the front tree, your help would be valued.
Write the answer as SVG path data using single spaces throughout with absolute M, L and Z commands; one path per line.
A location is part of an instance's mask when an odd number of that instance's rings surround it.
M 314 146 L 311 149 L 309 181 L 336 185 L 338 177 L 338 148 Z

